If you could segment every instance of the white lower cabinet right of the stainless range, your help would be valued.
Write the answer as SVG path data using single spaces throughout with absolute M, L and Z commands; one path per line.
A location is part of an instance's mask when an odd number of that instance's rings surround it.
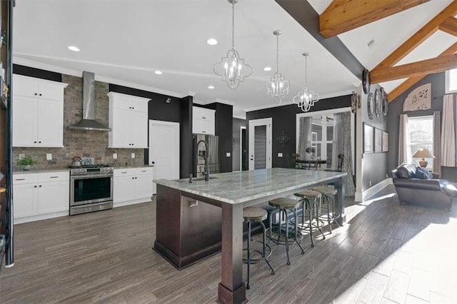
M 152 180 L 152 167 L 114 169 L 114 207 L 151 201 Z

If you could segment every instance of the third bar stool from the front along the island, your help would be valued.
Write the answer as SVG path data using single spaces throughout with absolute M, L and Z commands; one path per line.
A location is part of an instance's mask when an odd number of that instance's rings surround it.
M 306 189 L 298 193 L 293 193 L 293 195 L 298 196 L 298 198 L 300 198 L 301 208 L 303 208 L 301 229 L 308 231 L 309 237 L 311 238 L 311 247 L 314 247 L 313 230 L 319 230 L 323 239 L 326 239 L 326 236 L 323 234 L 321 230 L 321 223 L 323 224 L 323 221 L 319 219 L 319 209 L 321 208 L 322 197 L 321 193 L 318 191 Z M 308 211 L 308 226 L 305 225 L 306 210 Z

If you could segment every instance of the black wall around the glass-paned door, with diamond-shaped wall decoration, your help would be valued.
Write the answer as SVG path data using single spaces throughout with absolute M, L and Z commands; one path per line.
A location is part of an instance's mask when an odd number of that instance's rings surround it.
M 330 110 L 332 108 L 346 108 L 351 106 L 351 96 L 338 96 L 333 98 L 326 98 L 318 101 L 309 112 Z M 303 113 L 301 108 L 296 104 L 286 106 L 277 106 L 274 108 L 266 108 L 258 111 L 251 111 L 246 113 L 246 141 L 249 142 L 249 121 L 252 119 L 260 118 L 273 118 L 272 128 L 272 160 L 271 166 L 273 168 L 288 168 L 286 154 L 296 152 L 296 114 Z M 277 140 L 281 132 L 284 131 L 291 139 L 282 146 Z M 248 145 L 247 145 L 248 146 Z M 246 147 L 247 150 L 249 149 Z M 250 155 L 250 151 L 246 153 L 246 157 Z M 278 157 L 278 153 L 283 153 L 283 157 Z M 248 164 L 248 160 L 246 160 Z

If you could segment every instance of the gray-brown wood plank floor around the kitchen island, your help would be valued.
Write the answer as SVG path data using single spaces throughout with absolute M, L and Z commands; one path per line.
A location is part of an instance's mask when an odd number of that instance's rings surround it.
M 301 255 L 252 266 L 251 303 L 456 303 L 457 206 L 400 206 L 388 186 Z M 0 303 L 215 303 L 220 255 L 178 271 L 157 255 L 154 201 L 15 226 Z M 245 268 L 246 269 L 246 268 Z

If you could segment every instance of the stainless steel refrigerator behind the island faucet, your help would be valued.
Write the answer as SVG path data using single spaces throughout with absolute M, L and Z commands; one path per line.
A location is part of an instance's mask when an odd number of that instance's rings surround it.
M 203 172 L 205 170 L 205 160 L 199 154 L 204 156 L 209 156 L 209 173 L 219 173 L 219 136 L 214 135 L 205 135 L 205 134 L 193 134 L 193 170 L 194 177 L 204 176 Z M 206 151 L 204 143 L 200 143 L 197 146 L 199 141 L 205 141 L 208 144 L 209 151 Z

